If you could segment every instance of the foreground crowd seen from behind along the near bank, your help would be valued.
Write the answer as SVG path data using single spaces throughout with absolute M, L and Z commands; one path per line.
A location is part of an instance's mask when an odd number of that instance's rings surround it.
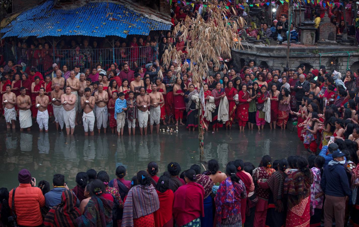
M 340 141 L 340 140 L 338 140 Z M 342 149 L 342 150 L 341 150 Z M 272 161 L 230 161 L 220 171 L 211 159 L 181 171 L 176 162 L 161 176 L 150 162 L 146 171 L 125 180 L 106 171 L 79 172 L 70 189 L 65 176 L 50 182 L 23 169 L 19 186 L 0 189 L 1 226 L 346 226 L 359 224 L 358 156 L 349 144 L 329 142 L 319 156 Z M 203 166 L 204 167 L 204 166 Z M 127 176 L 127 177 L 125 177 Z M 130 179 L 130 178 L 129 178 Z

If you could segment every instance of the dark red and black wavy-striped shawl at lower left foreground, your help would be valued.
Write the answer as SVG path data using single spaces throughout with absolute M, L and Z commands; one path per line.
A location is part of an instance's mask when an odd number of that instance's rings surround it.
M 70 190 L 62 191 L 61 203 L 47 213 L 44 226 L 73 227 L 80 210 L 75 206 L 77 198 Z

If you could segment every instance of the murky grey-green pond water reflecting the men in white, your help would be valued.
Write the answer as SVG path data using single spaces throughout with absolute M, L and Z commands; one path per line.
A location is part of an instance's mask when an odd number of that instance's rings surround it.
M 201 163 L 197 131 L 180 130 L 178 133 L 161 132 L 147 136 L 126 134 L 120 138 L 108 131 L 106 135 L 96 132 L 95 136 L 84 136 L 77 129 L 72 136 L 34 129 L 31 133 L 3 131 L 0 139 L 0 187 L 17 186 L 17 175 L 23 168 L 27 168 L 37 182 L 47 180 L 50 185 L 53 174 L 62 173 L 72 188 L 76 173 L 90 168 L 107 171 L 112 179 L 116 167 L 123 165 L 127 167 L 126 179 L 131 179 L 137 171 L 146 170 L 150 161 L 158 163 L 159 173 L 166 171 L 167 164 L 172 161 L 180 163 L 182 170 Z M 235 159 L 258 166 L 266 154 L 273 160 L 307 154 L 296 132 L 280 129 L 247 130 L 244 133 L 232 129 L 206 133 L 204 153 L 204 166 L 207 167 L 206 161 L 214 158 L 219 161 L 222 171 L 227 162 Z

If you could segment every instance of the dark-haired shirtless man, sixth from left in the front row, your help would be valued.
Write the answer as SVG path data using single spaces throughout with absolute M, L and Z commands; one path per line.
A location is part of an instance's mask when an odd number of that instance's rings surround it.
M 80 76 L 81 77 L 81 76 Z M 93 126 L 95 125 L 95 115 L 93 114 L 93 108 L 95 107 L 95 98 L 91 96 L 91 89 L 85 88 L 85 96 L 81 97 L 81 109 L 84 110 L 82 121 L 84 124 L 85 135 L 94 135 Z

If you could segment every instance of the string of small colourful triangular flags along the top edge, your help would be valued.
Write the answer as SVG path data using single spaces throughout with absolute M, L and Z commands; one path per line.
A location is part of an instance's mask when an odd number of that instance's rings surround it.
M 304 2 L 305 2 L 305 1 L 307 1 L 308 4 L 309 4 L 309 3 L 314 4 L 314 6 L 316 6 L 316 5 L 322 5 L 324 9 L 326 9 L 327 7 L 330 7 L 330 6 L 331 6 L 331 7 L 334 7 L 335 5 L 336 5 L 337 7 L 339 7 L 340 5 L 342 5 L 343 7 L 345 6 L 345 2 L 338 3 L 338 2 L 329 2 L 329 1 L 327 1 L 327 0 L 304 0 Z M 167 0 L 167 2 L 168 2 L 170 5 L 172 5 L 173 0 Z M 229 2 L 229 3 L 232 3 L 232 0 L 228 0 L 228 2 Z M 289 0 L 280 0 L 280 3 L 281 3 L 281 4 L 284 4 L 284 2 L 289 3 Z M 178 3 L 178 4 L 183 3 L 183 5 L 191 5 L 192 8 L 193 8 L 194 5 L 195 5 L 195 3 L 188 3 L 188 2 L 186 2 L 186 1 L 180 1 L 180 0 L 177 0 L 177 3 Z M 261 6 L 263 6 L 263 5 L 269 6 L 270 3 L 275 4 L 275 1 L 266 0 L 266 2 L 263 2 L 263 3 L 261 3 L 261 4 L 250 4 L 250 5 L 248 5 L 248 6 L 250 6 L 250 7 L 253 7 L 253 6 L 259 7 L 260 5 L 261 5 Z M 295 6 L 296 8 L 299 8 L 299 6 L 300 6 L 300 1 L 298 1 L 298 3 L 299 3 L 299 4 L 297 4 L 296 2 L 293 1 L 293 4 L 294 4 L 294 6 Z M 208 5 L 208 4 L 200 4 L 200 6 L 201 6 L 201 7 L 207 7 L 207 6 L 211 6 L 211 5 Z M 242 9 L 244 9 L 244 6 L 245 6 L 245 5 L 242 5 L 242 4 L 240 4 L 240 3 L 239 3 L 238 5 L 236 5 L 237 8 L 238 8 L 238 7 L 241 7 Z M 212 6 L 212 7 L 214 7 L 214 6 Z M 229 9 L 229 7 L 233 7 L 233 6 L 224 6 L 224 7 L 225 7 L 226 9 Z

